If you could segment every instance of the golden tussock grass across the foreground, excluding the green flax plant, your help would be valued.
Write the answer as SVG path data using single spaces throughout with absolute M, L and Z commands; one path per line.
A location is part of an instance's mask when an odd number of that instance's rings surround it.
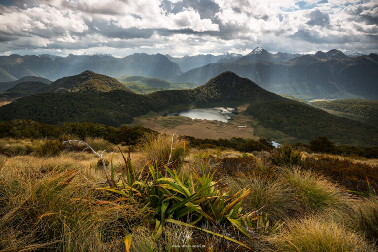
M 162 162 L 167 161 L 167 143 L 170 150 L 171 139 L 168 136 L 164 141 L 158 140 L 160 145 L 131 152 L 133 163 L 139 167 L 147 157 L 158 155 L 161 155 Z M 32 150 L 38 142 L 31 139 L 0 139 L 0 147 L 6 146 L 8 150 L 8 147 L 18 146 Z M 181 144 L 179 142 L 178 146 Z M 127 149 L 127 146 L 122 147 L 123 152 L 127 152 Z M 181 149 L 178 151 L 177 157 L 180 157 Z M 214 170 L 219 163 L 212 162 L 208 158 L 210 155 L 220 159 L 240 158 L 243 155 L 237 151 L 219 149 L 188 149 L 186 153 L 179 174 L 184 181 L 194 169 L 201 172 L 201 162 L 205 170 Z M 0 155 L 0 251 L 124 252 L 122 236 L 125 233 L 133 234 L 131 252 L 226 251 L 225 248 L 229 246 L 224 239 L 190 233 L 190 229 L 177 225 L 166 226 L 164 235 L 158 240 L 154 239 L 153 230 L 145 224 L 146 213 L 140 210 L 136 202 L 127 199 L 126 204 L 114 204 L 111 203 L 114 195 L 95 189 L 105 179 L 103 171 L 96 168 L 99 159 L 94 154 L 67 150 L 53 157 L 39 157 L 33 152 L 4 154 Z M 232 176 L 217 173 L 217 179 L 222 180 L 221 183 L 228 182 L 235 187 L 235 191 L 243 187 L 251 189 L 242 204 L 244 210 L 252 211 L 265 206 L 264 213 L 270 214 L 272 221 L 287 221 L 281 232 L 257 236 L 256 251 L 377 250 L 377 196 L 355 199 L 324 176 L 300 167 L 273 167 L 266 153 L 254 154 L 256 160 L 250 172 Z M 309 156 L 342 158 L 302 153 L 302 158 Z M 110 162 L 112 158 L 118 176 L 120 168 L 125 165 L 118 149 L 114 153 L 104 153 L 105 160 Z M 354 161 L 376 162 L 375 159 Z M 71 170 L 76 171 L 72 181 L 62 183 L 68 178 L 64 173 Z M 56 189 L 62 185 L 62 189 Z M 227 235 L 227 229 L 222 227 L 204 228 L 215 228 L 214 231 Z M 188 239 L 177 239 L 186 232 L 191 235 L 187 234 Z M 173 250 L 173 245 L 190 244 L 204 244 L 205 248 L 179 247 Z M 38 249 L 40 247 L 42 249 Z M 234 249 L 229 248 L 230 251 Z

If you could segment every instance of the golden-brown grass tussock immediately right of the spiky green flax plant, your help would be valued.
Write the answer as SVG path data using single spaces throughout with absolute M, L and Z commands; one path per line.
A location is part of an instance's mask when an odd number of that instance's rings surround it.
M 226 180 L 234 191 L 250 188 L 251 192 L 243 201 L 243 208 L 252 211 L 263 208 L 272 221 L 287 220 L 296 210 L 295 195 L 291 189 L 278 180 L 263 179 L 253 175 L 237 173 Z

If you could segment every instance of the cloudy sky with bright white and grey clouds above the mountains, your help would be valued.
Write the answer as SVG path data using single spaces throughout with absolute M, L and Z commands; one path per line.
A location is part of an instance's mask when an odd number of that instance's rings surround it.
M 378 0 L 0 0 L 0 55 L 378 53 Z

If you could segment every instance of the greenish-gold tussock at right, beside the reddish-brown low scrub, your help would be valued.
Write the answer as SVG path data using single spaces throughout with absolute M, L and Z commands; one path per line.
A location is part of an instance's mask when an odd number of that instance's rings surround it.
M 349 197 L 329 179 L 299 167 L 280 169 L 281 179 L 294 191 L 295 197 L 304 211 L 319 211 L 324 208 L 343 209 Z

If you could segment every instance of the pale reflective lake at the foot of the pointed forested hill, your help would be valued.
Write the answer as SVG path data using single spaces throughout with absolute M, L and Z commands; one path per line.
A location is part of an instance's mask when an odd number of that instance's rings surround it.
M 237 115 L 238 111 L 236 108 L 231 107 L 219 107 L 219 108 L 192 108 L 187 110 L 181 110 L 175 113 L 168 113 L 166 116 L 186 116 L 191 119 L 206 119 L 214 121 L 222 121 L 227 123 L 232 120 L 234 115 Z

